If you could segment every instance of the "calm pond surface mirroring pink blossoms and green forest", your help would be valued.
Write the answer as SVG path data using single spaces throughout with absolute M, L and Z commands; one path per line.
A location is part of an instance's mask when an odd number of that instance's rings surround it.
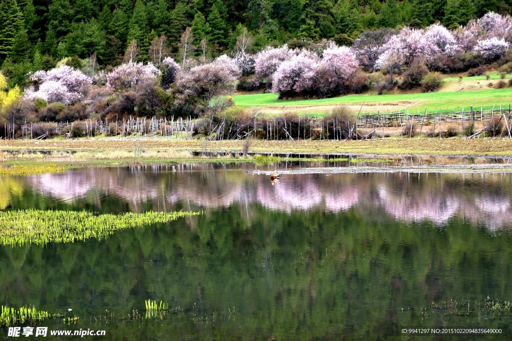
M 499 327 L 508 336 L 475 339 L 512 337 L 510 316 L 431 309 L 512 300 L 511 174 L 287 175 L 271 184 L 252 169 L 0 177 L 3 210 L 204 211 L 101 241 L 0 247 L 2 304 L 72 308 L 80 322 L 66 328 L 105 329 L 102 340 L 420 339 L 397 336 L 413 326 Z M 144 315 L 147 299 L 181 312 L 122 320 Z M 105 321 L 106 310 L 115 319 Z

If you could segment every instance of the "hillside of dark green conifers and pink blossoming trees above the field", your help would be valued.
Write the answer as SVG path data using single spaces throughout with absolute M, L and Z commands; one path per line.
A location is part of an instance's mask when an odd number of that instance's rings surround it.
M 511 4 L 2 0 L 0 135 L 26 122 L 198 118 L 236 90 L 326 98 L 434 92 L 440 73 L 505 78 Z

